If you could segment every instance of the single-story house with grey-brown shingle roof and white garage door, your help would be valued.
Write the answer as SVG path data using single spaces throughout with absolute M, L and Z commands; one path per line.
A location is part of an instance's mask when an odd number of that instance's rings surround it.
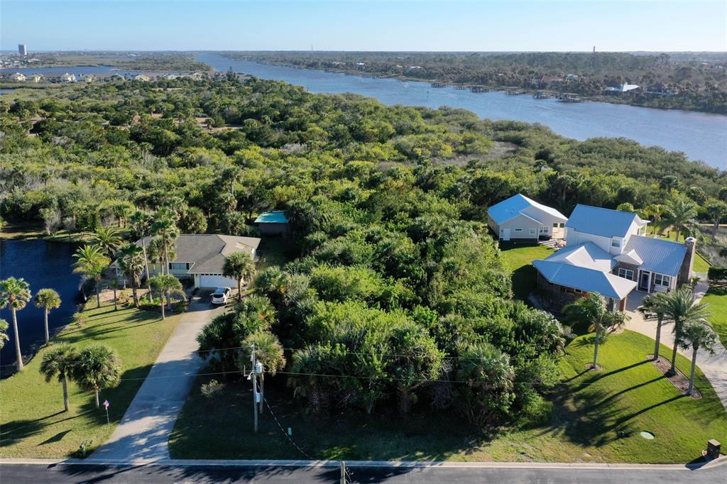
M 145 237 L 144 244 L 148 248 L 152 237 Z M 141 239 L 137 246 L 141 246 Z M 235 235 L 217 234 L 182 234 L 174 243 L 176 257 L 169 261 L 169 273 L 177 278 L 190 278 L 194 287 L 236 287 L 237 281 L 222 275 L 225 257 L 233 252 L 244 251 L 252 259 L 257 258 L 257 246 L 260 239 L 254 237 L 236 237 Z M 150 275 L 161 273 L 162 262 L 150 263 Z

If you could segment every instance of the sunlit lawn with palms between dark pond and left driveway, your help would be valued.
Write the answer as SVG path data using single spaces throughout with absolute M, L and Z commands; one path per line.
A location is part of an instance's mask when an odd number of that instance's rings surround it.
M 90 305 L 93 308 L 84 311 L 88 318 L 84 327 L 67 328 L 55 341 L 76 347 L 103 343 L 119 352 L 124 381 L 100 396 L 101 401 L 108 399 L 111 403 L 111 425 L 106 424 L 103 408 L 95 408 L 93 394 L 81 392 L 73 383 L 68 387 L 71 410 L 63 411 L 60 383 L 46 383 L 38 372 L 45 351 L 41 350 L 22 373 L 0 382 L 1 457 L 65 457 L 77 451 L 83 442 L 90 443 L 92 448 L 103 443 L 124 416 L 151 364 L 181 319 L 174 315 L 162 322 L 155 312 L 134 308 L 115 312 L 113 304 L 100 309 Z M 19 320 L 22 338 L 22 311 Z

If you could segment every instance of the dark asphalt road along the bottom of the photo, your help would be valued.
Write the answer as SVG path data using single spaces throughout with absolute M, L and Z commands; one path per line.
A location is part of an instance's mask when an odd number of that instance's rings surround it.
M 727 466 L 711 469 L 515 467 L 348 467 L 351 483 L 724 484 Z M 337 467 L 2 464 L 4 483 L 340 483 Z

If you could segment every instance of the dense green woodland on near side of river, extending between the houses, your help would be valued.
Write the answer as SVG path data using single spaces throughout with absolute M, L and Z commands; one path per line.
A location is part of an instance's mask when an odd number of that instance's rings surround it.
M 226 349 L 267 342 L 266 366 L 313 413 L 546 412 L 563 328 L 512 299 L 486 208 L 523 193 L 658 214 L 688 197 L 711 221 L 727 197 L 726 173 L 683 153 L 232 74 L 3 96 L 0 131 L 7 222 L 90 232 L 164 209 L 182 233 L 255 236 L 257 214 L 286 211 L 292 260 L 199 341 L 232 373 L 246 350 Z

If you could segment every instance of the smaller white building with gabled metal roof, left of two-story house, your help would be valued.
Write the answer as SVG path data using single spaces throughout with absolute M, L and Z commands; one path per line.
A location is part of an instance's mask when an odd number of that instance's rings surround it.
M 501 241 L 561 238 L 568 217 L 525 195 L 513 195 L 487 209 L 487 223 Z

